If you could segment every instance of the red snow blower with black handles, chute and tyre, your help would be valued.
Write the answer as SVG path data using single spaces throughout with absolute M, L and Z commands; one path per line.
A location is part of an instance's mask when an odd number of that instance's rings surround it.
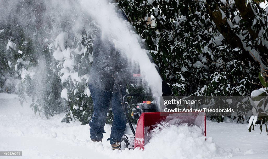
M 121 88 L 122 84 L 141 84 L 142 79 L 140 77 L 139 70 L 133 70 L 134 73 L 129 73 L 131 71 L 127 71 L 128 73 L 116 73 L 114 74 L 114 79 L 116 84 L 118 85 L 119 89 Z M 128 75 L 126 77 L 126 75 Z M 124 76 L 124 77 L 120 77 Z M 162 92 L 163 96 L 172 95 L 172 91 L 169 86 L 163 81 L 162 82 Z M 188 125 L 196 125 L 199 126 L 203 130 L 204 136 L 206 136 L 206 115 L 203 113 L 164 113 L 158 111 L 158 107 L 156 103 L 152 103 L 149 100 L 143 101 L 143 103 L 139 103 L 136 105 L 136 110 L 132 110 L 129 112 L 127 109 L 126 98 L 127 97 L 141 97 L 141 96 L 149 96 L 152 97 L 152 94 L 121 94 L 121 101 L 124 114 L 126 116 L 126 120 L 129 124 L 129 127 L 133 134 L 124 134 L 122 136 L 121 141 L 121 150 L 123 149 L 135 149 L 140 148 L 144 149 L 144 145 L 147 144 L 147 133 L 150 130 L 154 129 L 158 123 L 162 121 L 171 120 L 177 118 L 179 124 L 187 123 Z M 136 131 L 132 125 L 132 122 L 129 118 L 129 114 L 131 114 L 132 119 L 136 119 L 137 126 Z M 178 124 L 178 123 L 177 123 Z

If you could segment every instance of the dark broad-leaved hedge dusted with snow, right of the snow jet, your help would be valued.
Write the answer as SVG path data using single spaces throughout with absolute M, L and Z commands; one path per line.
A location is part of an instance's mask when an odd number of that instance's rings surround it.
M 260 87 L 256 59 L 267 66 L 267 8 L 252 1 L 246 6 L 229 1 L 119 0 L 118 5 L 175 95 L 241 96 Z M 241 7 L 255 14 L 245 19 Z M 214 18 L 218 13 L 222 18 Z M 244 111 L 236 113 L 249 110 Z

